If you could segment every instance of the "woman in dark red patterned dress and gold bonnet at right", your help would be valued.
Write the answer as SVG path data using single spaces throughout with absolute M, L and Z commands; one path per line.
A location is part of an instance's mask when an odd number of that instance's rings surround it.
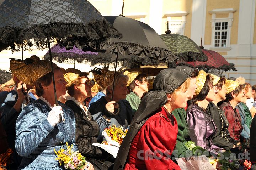
M 226 81 L 226 100 L 219 106 L 223 110 L 225 117 L 228 119 L 228 131 L 230 137 L 236 141 L 240 141 L 241 132 L 243 130 L 241 117 L 236 104 L 242 102 L 244 93 L 242 92 L 242 85 L 233 80 Z

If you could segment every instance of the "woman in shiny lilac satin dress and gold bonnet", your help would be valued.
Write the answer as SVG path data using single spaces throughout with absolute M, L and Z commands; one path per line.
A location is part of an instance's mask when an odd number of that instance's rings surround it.
M 216 125 L 206 108 L 211 101 L 216 100 L 217 91 L 214 85 L 219 81 L 219 77 L 206 74 L 203 70 L 197 76 L 197 88 L 192 103 L 188 106 L 187 122 L 190 130 L 190 139 L 197 146 L 217 153 L 220 149 L 212 143 L 212 138 L 216 133 Z

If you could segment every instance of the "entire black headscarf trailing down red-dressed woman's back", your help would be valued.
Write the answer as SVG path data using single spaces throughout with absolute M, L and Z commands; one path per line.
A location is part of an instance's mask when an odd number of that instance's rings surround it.
M 167 102 L 167 93 L 174 92 L 187 80 L 187 76 L 175 68 L 161 70 L 153 83 L 154 91 L 148 92 L 140 102 L 130 128 L 119 148 L 113 170 L 123 169 L 133 138 L 142 125 Z

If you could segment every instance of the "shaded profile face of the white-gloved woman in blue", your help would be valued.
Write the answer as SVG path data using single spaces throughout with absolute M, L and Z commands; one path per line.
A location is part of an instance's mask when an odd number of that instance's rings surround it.
M 64 79 L 62 70 L 55 69 L 53 72 L 54 72 L 54 79 L 55 79 L 55 86 L 56 86 L 56 95 L 57 95 L 57 98 L 59 98 L 60 96 L 66 94 L 67 82 Z M 48 90 L 50 94 L 54 94 L 53 81 L 48 86 Z

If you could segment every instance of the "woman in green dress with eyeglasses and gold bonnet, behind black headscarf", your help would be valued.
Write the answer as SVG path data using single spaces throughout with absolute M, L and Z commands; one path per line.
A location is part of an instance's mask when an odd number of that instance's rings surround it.
M 143 94 L 148 92 L 148 80 L 146 79 L 146 74 L 138 71 L 126 71 L 124 72 L 124 75 L 129 77 L 128 85 L 130 93 L 126 95 L 126 100 L 130 103 L 132 107 L 132 116 L 134 116 Z

